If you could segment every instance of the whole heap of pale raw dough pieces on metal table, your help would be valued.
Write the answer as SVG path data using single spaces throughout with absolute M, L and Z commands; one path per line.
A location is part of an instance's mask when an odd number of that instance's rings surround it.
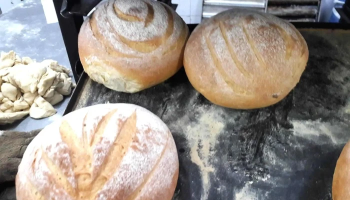
M 0 54 L 0 124 L 29 114 L 44 118 L 56 113 L 52 105 L 69 95 L 75 83 L 70 69 L 57 61 L 20 58 L 13 50 Z

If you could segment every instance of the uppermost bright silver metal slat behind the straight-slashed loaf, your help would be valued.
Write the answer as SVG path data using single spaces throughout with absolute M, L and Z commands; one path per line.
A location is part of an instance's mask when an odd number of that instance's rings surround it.
M 204 5 L 226 5 L 238 7 L 265 7 L 265 0 L 204 0 Z

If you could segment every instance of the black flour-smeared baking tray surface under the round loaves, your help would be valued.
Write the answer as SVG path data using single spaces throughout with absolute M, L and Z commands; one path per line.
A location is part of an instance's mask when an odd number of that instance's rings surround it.
M 76 110 L 134 103 L 158 115 L 178 149 L 173 199 L 330 200 L 336 160 L 350 138 L 350 31 L 300 29 L 309 60 L 279 103 L 235 110 L 213 105 L 183 69 L 165 82 L 128 94 L 92 81 L 77 87 Z

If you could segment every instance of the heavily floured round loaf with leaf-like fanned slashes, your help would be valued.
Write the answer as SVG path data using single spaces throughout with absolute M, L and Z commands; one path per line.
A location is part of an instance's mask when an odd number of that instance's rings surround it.
M 175 142 L 156 115 L 133 104 L 99 104 L 47 125 L 26 148 L 17 200 L 170 200 Z

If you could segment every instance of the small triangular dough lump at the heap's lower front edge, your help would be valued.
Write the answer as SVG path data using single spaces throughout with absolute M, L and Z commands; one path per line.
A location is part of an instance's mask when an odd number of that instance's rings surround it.
M 34 100 L 34 103 L 29 109 L 29 115 L 32 118 L 44 118 L 52 116 L 56 113 L 56 110 L 52 105 L 43 99 L 41 96 L 37 96 Z

